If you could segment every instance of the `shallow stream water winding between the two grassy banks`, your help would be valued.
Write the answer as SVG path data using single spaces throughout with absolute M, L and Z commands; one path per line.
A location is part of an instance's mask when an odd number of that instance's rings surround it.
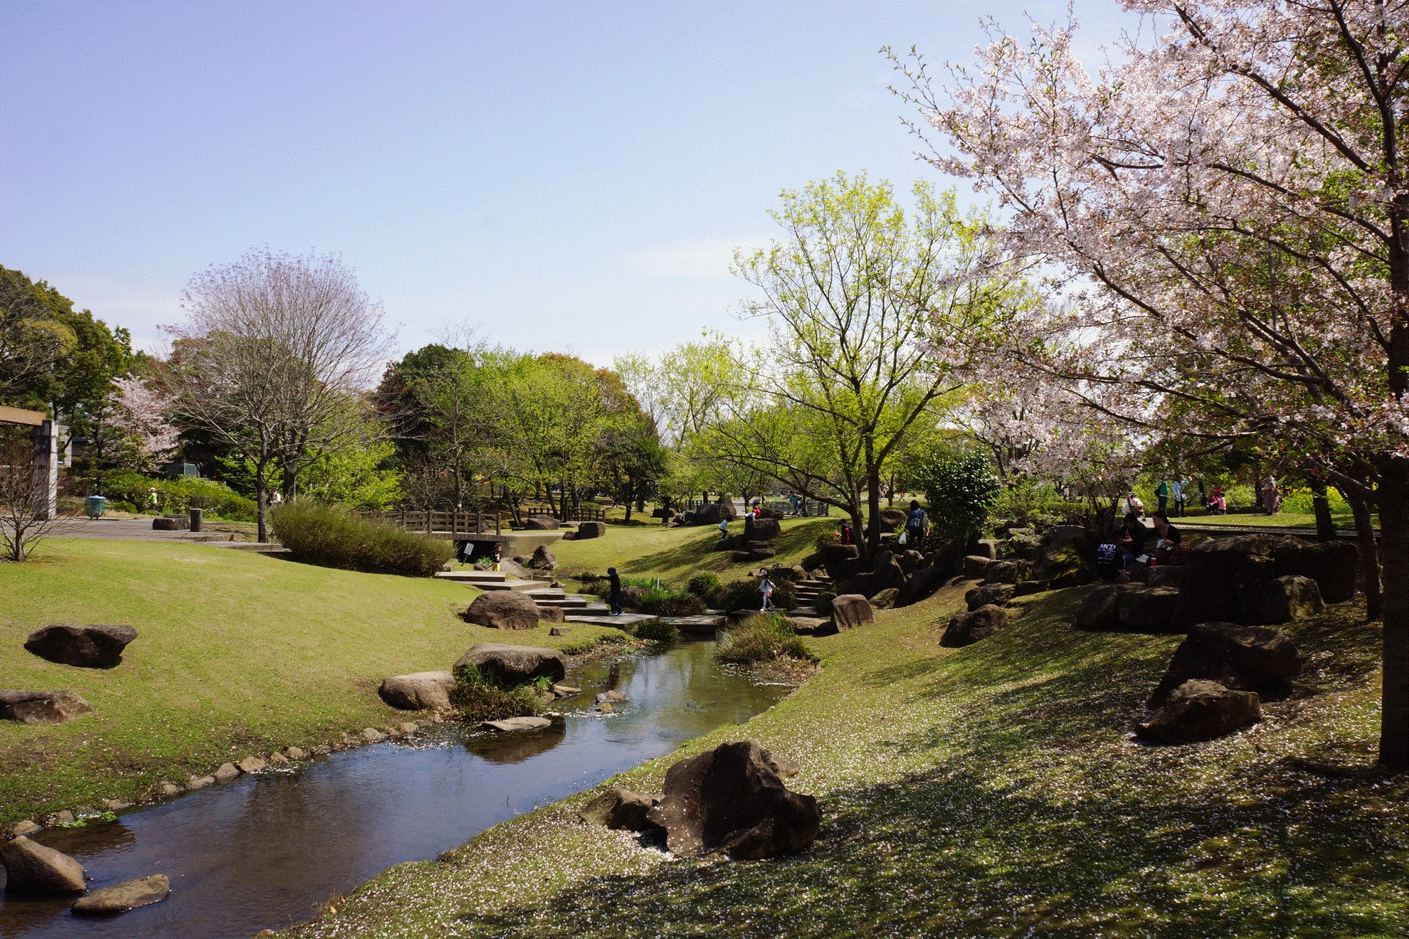
M 166 874 L 161 904 L 108 919 L 68 900 L 0 900 L 0 936 L 247 938 L 314 915 L 330 897 L 407 860 L 435 857 L 504 819 L 589 788 L 682 741 L 766 710 L 786 688 L 720 672 L 713 642 L 685 642 L 575 669 L 572 708 L 538 732 L 492 735 L 438 725 L 414 742 L 378 743 L 189 793 L 117 822 L 41 832 L 72 855 L 89 888 Z M 597 691 L 630 697 L 590 711 Z

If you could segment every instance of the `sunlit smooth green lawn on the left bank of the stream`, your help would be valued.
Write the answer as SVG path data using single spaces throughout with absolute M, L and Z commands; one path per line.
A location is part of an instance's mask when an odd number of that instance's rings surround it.
M 457 617 L 476 594 L 209 545 L 46 542 L 34 563 L 0 565 L 0 683 L 70 688 L 96 710 L 61 726 L 0 721 L 0 821 L 409 719 L 376 697 L 382 677 L 448 669 L 475 642 L 506 641 Z M 139 635 L 117 667 L 75 669 L 24 650 L 51 622 Z M 609 632 L 555 639 L 544 625 L 511 641 L 561 648 Z

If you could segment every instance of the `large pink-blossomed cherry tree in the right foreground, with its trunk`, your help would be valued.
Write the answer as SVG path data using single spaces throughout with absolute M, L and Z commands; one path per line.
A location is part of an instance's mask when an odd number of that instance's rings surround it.
M 1014 348 L 1098 410 L 1153 401 L 1378 507 L 1379 760 L 1409 769 L 1406 8 L 1124 6 L 1168 28 L 1096 73 L 1075 24 L 1034 27 L 948 82 L 899 62 L 905 94 L 941 134 L 934 165 L 998 197 L 1007 249 L 1065 298 Z

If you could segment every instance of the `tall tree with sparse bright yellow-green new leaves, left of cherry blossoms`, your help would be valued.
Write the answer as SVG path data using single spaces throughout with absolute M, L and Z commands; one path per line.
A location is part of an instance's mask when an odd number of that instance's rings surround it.
M 764 407 L 713 431 L 723 459 L 837 505 L 857 525 L 879 518 L 883 467 L 907 429 L 958 383 L 929 355 L 955 331 L 983 329 L 1005 303 L 992 280 L 968 277 L 978 224 L 950 194 L 914 187 L 914 210 L 889 183 L 837 173 L 785 191 L 783 238 L 735 256 L 761 296 L 771 342 L 740 363 Z M 871 527 L 868 552 L 879 546 Z

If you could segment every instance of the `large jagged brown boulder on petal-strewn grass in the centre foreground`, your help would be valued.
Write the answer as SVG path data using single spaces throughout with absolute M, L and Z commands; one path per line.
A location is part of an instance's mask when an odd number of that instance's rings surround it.
M 647 819 L 665 829 L 682 857 L 724 850 L 740 860 L 796 855 L 817 838 L 821 811 L 812 795 L 789 791 L 752 741 L 720 743 L 665 773 L 659 804 Z

